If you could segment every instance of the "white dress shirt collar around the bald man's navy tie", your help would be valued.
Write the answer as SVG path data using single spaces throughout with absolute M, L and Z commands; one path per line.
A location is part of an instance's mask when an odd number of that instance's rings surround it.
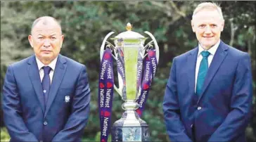
M 53 61 L 51 61 L 51 63 L 49 63 L 49 65 L 44 65 L 44 63 L 41 63 L 41 61 L 36 57 L 37 66 L 38 66 L 41 81 L 43 80 L 43 77 L 44 77 L 44 69 L 42 69 L 41 67 L 49 66 L 49 67 L 51 67 L 51 72 L 49 73 L 49 76 L 50 76 L 50 80 L 52 82 L 53 73 L 54 73 L 54 70 L 55 70 L 55 67 L 56 67 L 57 59 L 58 59 L 58 56 Z

